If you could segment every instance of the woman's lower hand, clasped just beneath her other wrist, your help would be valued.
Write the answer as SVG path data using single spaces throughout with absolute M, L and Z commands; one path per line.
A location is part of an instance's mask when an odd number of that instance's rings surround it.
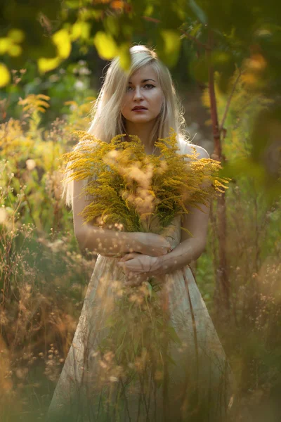
M 159 274 L 157 262 L 157 257 L 131 252 L 124 255 L 117 265 L 124 269 L 128 280 L 126 285 L 139 286 L 143 281 Z

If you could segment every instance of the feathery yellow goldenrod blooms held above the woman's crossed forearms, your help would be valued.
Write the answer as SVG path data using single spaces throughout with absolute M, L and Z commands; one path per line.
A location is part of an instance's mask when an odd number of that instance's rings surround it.
M 118 135 L 107 143 L 77 134 L 79 148 L 63 159 L 72 179 L 88 181 L 83 193 L 94 198 L 82 212 L 85 222 L 160 233 L 176 215 L 188 213 L 186 205 L 207 205 L 228 183 L 218 177 L 218 161 L 199 160 L 196 151 L 178 154 L 174 132 L 155 142 L 159 155 L 145 154 L 138 136 L 128 142 Z

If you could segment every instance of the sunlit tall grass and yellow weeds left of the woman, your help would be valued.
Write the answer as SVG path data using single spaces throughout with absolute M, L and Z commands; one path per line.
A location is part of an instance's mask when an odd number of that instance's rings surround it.
M 0 127 L 1 421 L 43 417 L 95 262 L 81 255 L 60 198 L 57 158 L 75 142 L 73 116 L 46 131 L 48 98 L 21 103 L 21 119 Z

